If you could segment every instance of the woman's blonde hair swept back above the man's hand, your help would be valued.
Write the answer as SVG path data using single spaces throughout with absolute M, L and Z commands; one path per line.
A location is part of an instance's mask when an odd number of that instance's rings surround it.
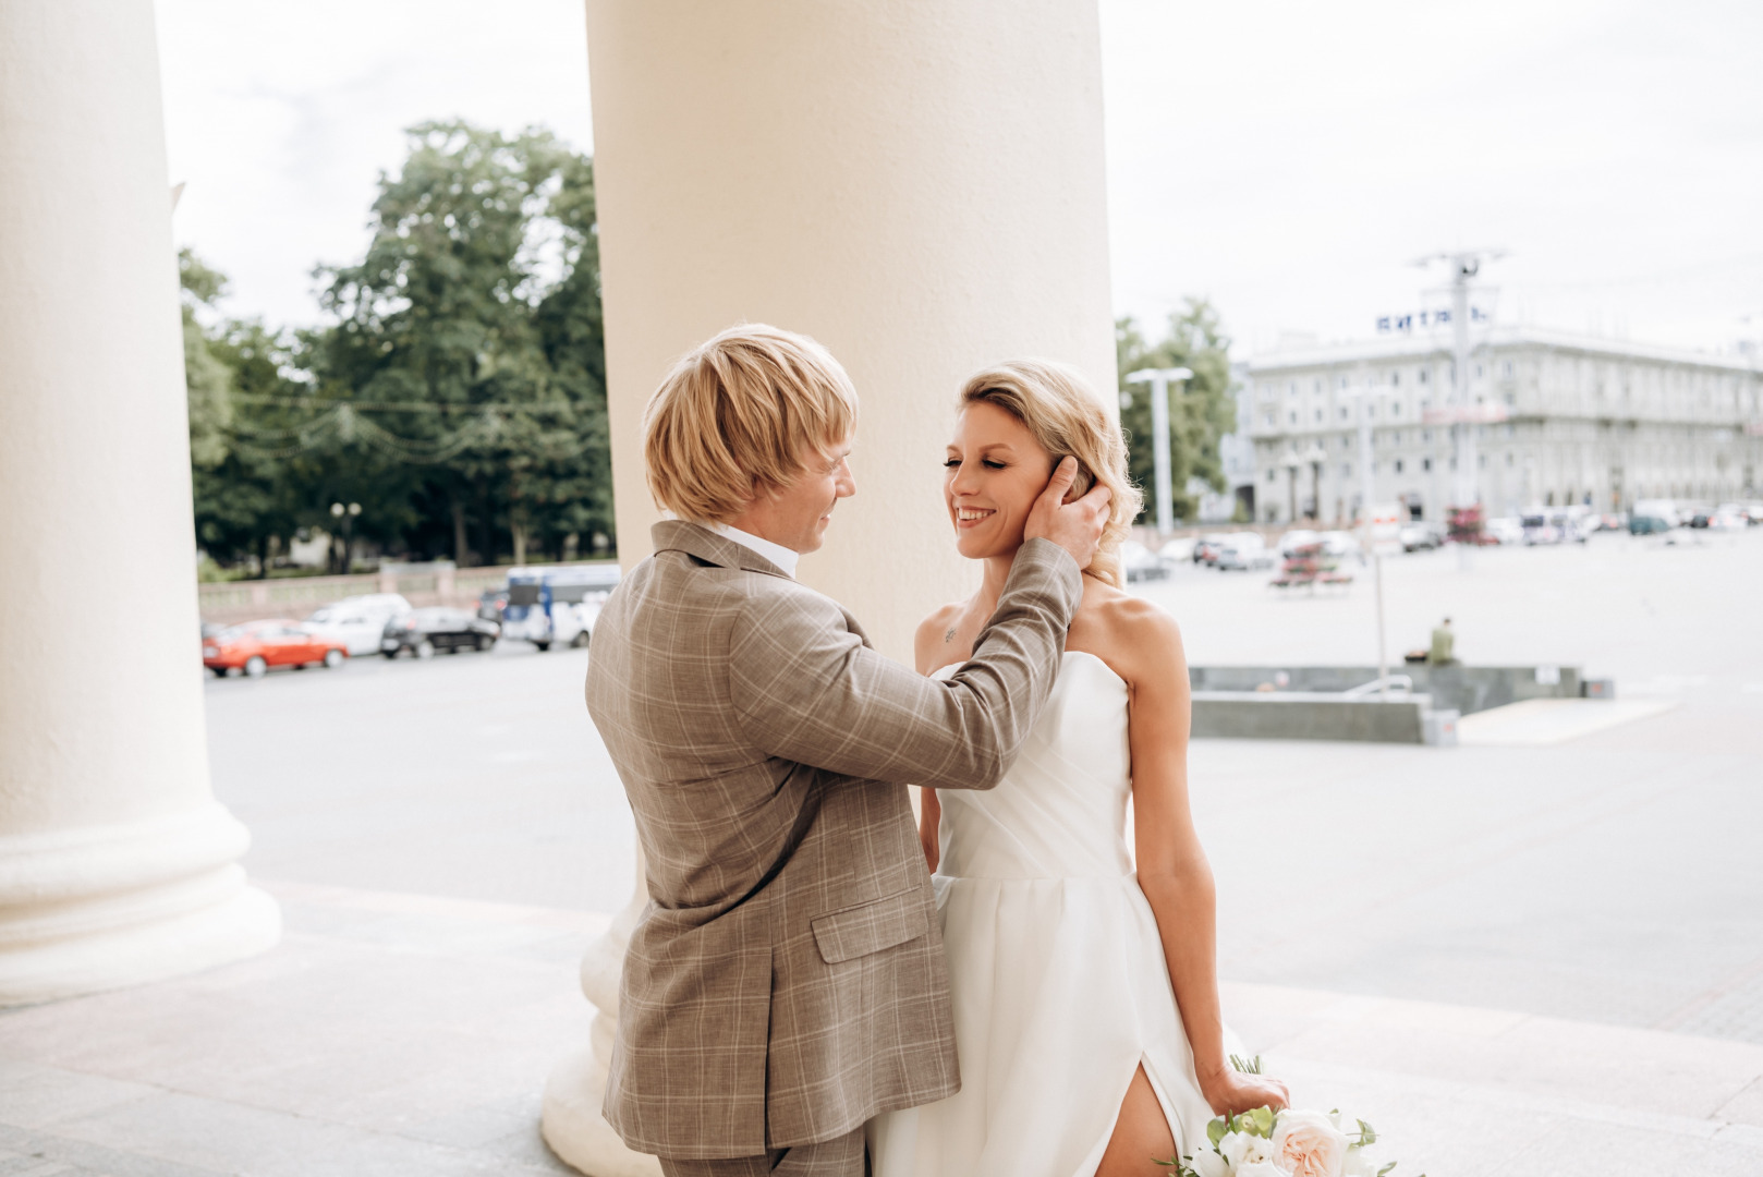
M 1005 360 L 968 378 L 961 388 L 961 408 L 996 404 L 1028 425 L 1053 464 L 1067 454 L 1077 459 L 1072 498 L 1102 484 L 1112 492 L 1102 545 L 1090 561 L 1090 575 L 1116 588 L 1127 588 L 1120 563 L 1120 545 L 1139 517 L 1144 496 L 1127 473 L 1127 439 L 1120 425 L 1102 408 L 1102 397 L 1082 376 L 1053 360 Z M 1051 475 L 1051 468 L 1049 468 Z

